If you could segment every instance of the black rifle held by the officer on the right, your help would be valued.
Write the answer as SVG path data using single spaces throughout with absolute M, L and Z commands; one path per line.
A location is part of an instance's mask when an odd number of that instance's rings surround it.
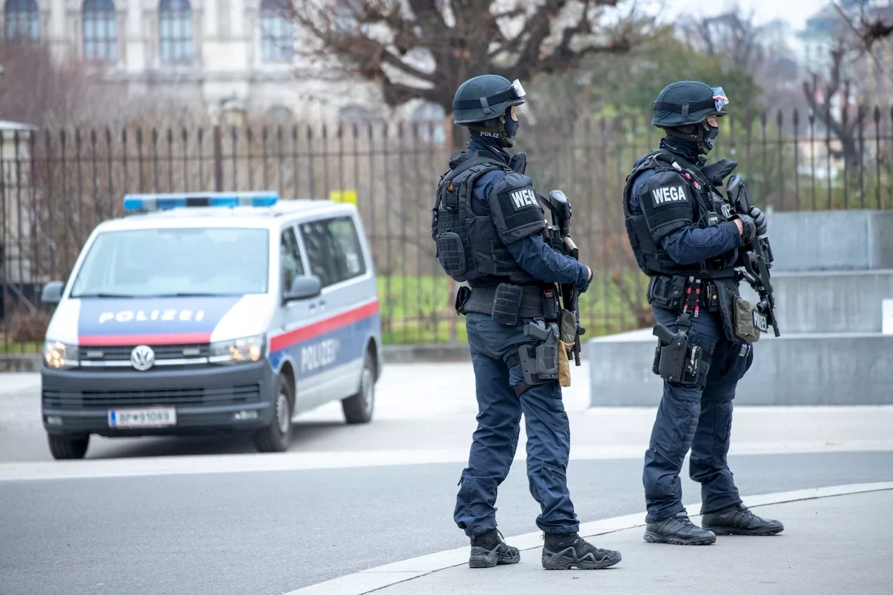
M 736 173 L 730 177 L 726 190 L 730 202 L 735 205 L 739 214 L 749 214 L 751 205 L 747 200 L 747 189 L 744 187 L 744 180 L 741 180 L 741 176 Z M 778 321 L 775 318 L 775 298 L 772 296 L 772 283 L 769 279 L 769 269 L 771 268 L 772 247 L 769 245 L 769 237 L 763 235 L 748 242 L 741 253 L 741 266 L 736 270 L 759 295 L 760 303 L 756 305 L 756 308 L 761 314 L 764 314 L 769 324 L 772 324 L 772 330 L 778 337 L 780 332 Z M 765 321 L 755 320 L 754 324 L 761 331 L 768 330 Z

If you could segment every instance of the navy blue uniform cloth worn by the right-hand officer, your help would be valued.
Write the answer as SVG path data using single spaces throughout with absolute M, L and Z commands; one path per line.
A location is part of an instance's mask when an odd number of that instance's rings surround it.
M 672 150 L 680 143 L 662 142 Z M 696 155 L 685 155 L 700 163 Z M 654 170 L 646 170 L 632 180 L 630 211 L 642 213 L 642 189 Z M 673 262 L 690 265 L 729 253 L 742 245 L 735 222 L 697 227 L 686 225 L 660 240 L 660 247 Z M 678 312 L 652 305 L 655 322 L 671 332 L 677 331 Z M 645 455 L 643 485 L 647 504 L 647 523 L 655 523 L 685 510 L 679 473 L 691 450 L 689 476 L 701 483 L 701 513 L 713 512 L 741 502 L 727 462 L 729 452 L 732 399 L 738 381 L 753 363 L 752 345 L 729 340 L 722 328 L 720 314 L 701 310 L 690 319 L 689 341 L 711 357 L 705 386 L 682 385 L 663 381 L 663 397 L 657 409 Z

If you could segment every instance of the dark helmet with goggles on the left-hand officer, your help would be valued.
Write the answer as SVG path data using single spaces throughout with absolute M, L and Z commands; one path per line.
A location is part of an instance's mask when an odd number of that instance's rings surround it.
M 524 103 L 524 88 L 497 74 L 466 80 L 453 97 L 453 122 L 460 125 L 495 120 L 512 105 Z

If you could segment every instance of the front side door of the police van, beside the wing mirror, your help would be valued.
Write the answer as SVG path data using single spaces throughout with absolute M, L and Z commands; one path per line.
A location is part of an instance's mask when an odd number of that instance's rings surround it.
M 302 373 L 302 347 L 308 330 L 320 320 L 321 298 L 300 299 L 282 304 L 282 294 L 291 287 L 296 277 L 305 274 L 305 262 L 298 244 L 295 227 L 288 224 L 280 234 L 280 299 L 275 331 L 271 330 L 270 361 L 280 370 L 289 361 L 295 371 L 295 412 L 300 413 L 319 401 L 319 378 Z

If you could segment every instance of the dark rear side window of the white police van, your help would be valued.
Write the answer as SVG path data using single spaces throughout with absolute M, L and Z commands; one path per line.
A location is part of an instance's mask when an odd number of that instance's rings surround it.
M 363 250 L 351 217 L 303 223 L 301 236 L 307 248 L 310 272 L 320 278 L 322 287 L 366 272 Z

